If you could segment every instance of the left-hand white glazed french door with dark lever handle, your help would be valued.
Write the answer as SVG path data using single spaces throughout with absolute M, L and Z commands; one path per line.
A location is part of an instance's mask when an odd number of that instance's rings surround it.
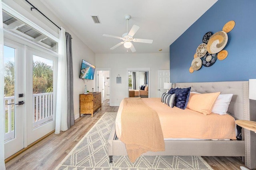
M 4 39 L 4 157 L 24 148 L 24 46 Z

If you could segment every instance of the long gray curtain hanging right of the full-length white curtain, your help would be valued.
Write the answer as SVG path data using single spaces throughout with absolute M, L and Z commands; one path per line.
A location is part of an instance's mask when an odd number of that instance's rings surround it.
M 66 48 L 67 48 L 67 89 L 68 89 L 68 107 L 67 107 L 67 123 L 68 129 L 75 124 L 74 119 L 74 100 L 73 100 L 73 61 L 72 61 L 72 42 L 71 35 L 66 35 Z

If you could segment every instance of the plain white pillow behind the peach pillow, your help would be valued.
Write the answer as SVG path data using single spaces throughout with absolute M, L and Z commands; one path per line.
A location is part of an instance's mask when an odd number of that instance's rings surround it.
M 190 92 L 190 93 L 198 93 L 198 92 Z M 226 115 L 232 96 L 233 94 L 220 94 L 212 108 L 212 113 L 217 113 L 219 115 Z

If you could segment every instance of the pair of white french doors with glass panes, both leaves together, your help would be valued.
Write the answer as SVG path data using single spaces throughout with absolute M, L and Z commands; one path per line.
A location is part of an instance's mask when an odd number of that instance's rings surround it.
M 55 129 L 56 55 L 4 38 L 5 158 Z

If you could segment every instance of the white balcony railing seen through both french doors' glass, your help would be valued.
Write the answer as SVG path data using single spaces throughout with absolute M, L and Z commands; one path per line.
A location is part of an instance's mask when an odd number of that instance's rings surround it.
M 4 141 L 14 139 L 14 96 L 4 97 L 6 129 Z M 53 120 L 53 93 L 33 94 L 33 128 L 39 127 Z

